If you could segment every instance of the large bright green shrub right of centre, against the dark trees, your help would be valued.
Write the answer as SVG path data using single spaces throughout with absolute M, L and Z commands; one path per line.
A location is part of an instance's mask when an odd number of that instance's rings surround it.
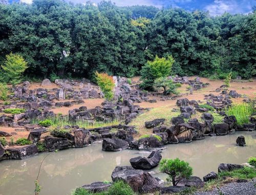
M 156 56 L 153 61 L 147 61 L 141 69 L 140 80 L 142 83 L 140 87 L 152 90 L 156 79 L 171 75 L 174 61 L 172 56 L 168 56 L 167 58 L 159 58 Z

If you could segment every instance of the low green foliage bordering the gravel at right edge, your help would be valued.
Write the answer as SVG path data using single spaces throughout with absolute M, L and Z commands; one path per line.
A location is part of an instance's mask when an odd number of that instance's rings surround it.
M 234 169 L 231 172 L 221 172 L 218 174 L 219 177 L 231 177 L 237 179 L 252 179 L 256 177 L 256 169 L 248 166 L 243 168 Z

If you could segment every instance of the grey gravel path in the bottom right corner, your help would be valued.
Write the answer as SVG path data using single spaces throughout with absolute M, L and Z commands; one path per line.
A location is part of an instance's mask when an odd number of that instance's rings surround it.
M 256 180 L 244 183 L 229 183 L 226 186 L 220 187 L 220 191 L 224 195 L 255 195 Z M 196 192 L 194 195 L 220 195 L 217 188 L 207 192 Z

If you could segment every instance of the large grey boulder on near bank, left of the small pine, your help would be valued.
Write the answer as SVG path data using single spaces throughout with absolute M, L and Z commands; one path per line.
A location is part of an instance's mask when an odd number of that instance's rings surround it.
M 135 192 L 150 193 L 160 188 L 157 179 L 143 170 L 134 169 L 131 166 L 116 166 L 111 175 L 113 182 L 123 180 L 129 184 Z

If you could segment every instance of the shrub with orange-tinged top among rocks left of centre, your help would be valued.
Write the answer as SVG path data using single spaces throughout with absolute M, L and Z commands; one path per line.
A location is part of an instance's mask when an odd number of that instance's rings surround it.
M 97 84 L 100 87 L 102 93 L 106 100 L 111 101 L 114 97 L 113 89 L 115 87 L 115 82 L 112 76 L 106 73 L 95 73 Z

